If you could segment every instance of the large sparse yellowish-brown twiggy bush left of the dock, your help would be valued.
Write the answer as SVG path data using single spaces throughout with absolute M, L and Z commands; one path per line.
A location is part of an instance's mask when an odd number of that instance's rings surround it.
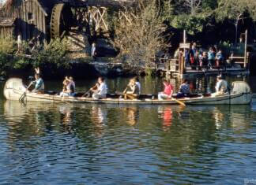
M 128 14 L 123 20 L 115 20 L 114 44 L 120 49 L 120 57 L 130 61 L 130 65 L 149 67 L 156 52 L 165 46 L 165 26 L 157 13 L 154 2 L 144 2 L 130 20 L 126 20 Z

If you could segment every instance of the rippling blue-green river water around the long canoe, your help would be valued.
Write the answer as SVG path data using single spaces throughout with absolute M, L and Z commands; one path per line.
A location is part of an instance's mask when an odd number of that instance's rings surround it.
M 247 80 L 253 90 L 254 78 Z M 111 91 L 128 79 L 107 80 Z M 172 80 L 178 83 L 179 80 Z M 62 82 L 46 82 L 60 91 Z M 88 90 L 95 80 L 77 82 Z M 195 78 L 199 93 L 215 78 Z M 3 83 L 2 83 L 3 86 Z M 145 93 L 160 79 L 141 79 Z M 176 88 L 177 89 L 177 88 Z M 244 184 L 256 180 L 252 105 L 92 105 L 0 98 L 1 184 Z

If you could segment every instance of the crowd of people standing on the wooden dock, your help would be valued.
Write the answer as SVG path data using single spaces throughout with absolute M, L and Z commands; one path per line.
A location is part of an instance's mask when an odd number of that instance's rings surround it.
M 179 57 L 180 49 L 175 51 L 175 58 Z M 201 70 L 201 68 L 226 68 L 224 55 L 222 50 L 217 49 L 217 46 L 209 47 L 208 51 L 198 50 L 197 44 L 193 43 L 190 49 L 185 50 L 186 66 L 191 66 L 192 69 Z

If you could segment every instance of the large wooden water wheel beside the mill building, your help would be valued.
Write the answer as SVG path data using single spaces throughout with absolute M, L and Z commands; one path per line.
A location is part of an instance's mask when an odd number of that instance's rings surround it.
M 72 17 L 70 6 L 67 4 L 59 3 L 54 6 L 51 13 L 51 39 L 60 38 L 69 31 Z

